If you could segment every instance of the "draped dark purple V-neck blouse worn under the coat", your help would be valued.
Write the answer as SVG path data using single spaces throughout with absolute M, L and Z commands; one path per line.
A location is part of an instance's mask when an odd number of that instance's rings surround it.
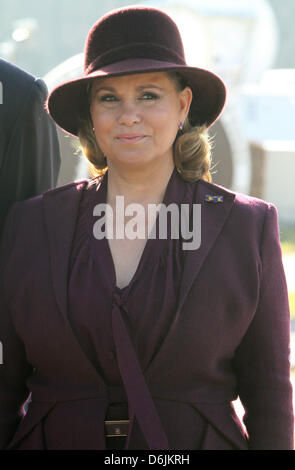
M 108 385 L 122 386 L 112 331 L 112 302 L 115 299 L 120 305 L 144 370 L 152 360 L 150 347 L 153 345 L 154 351 L 155 344 L 160 347 L 173 322 L 186 251 L 182 250 L 181 232 L 178 239 L 149 238 L 133 278 L 128 286 L 119 289 L 108 240 L 98 240 L 93 235 L 93 226 L 98 220 L 93 216 L 93 208 L 96 204 L 106 203 L 107 180 L 108 172 L 99 187 L 97 180 L 92 180 L 82 196 L 71 252 L 68 311 L 73 331 L 85 354 Z M 191 196 L 190 186 L 174 169 L 163 203 L 166 206 L 187 203 Z M 180 405 L 175 406 L 178 406 L 176 415 L 185 413 L 179 409 Z M 127 400 L 113 403 L 106 419 L 128 419 Z M 199 435 L 197 440 L 200 440 L 205 423 L 197 413 L 195 420 L 196 438 Z M 108 448 L 121 446 L 122 438 L 107 439 Z

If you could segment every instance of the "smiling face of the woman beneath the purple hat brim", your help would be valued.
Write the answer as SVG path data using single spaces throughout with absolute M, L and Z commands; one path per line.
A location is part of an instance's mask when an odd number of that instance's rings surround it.
M 96 80 L 90 111 L 98 145 L 120 166 L 172 158 L 172 145 L 191 100 L 191 89 L 179 92 L 165 72 Z

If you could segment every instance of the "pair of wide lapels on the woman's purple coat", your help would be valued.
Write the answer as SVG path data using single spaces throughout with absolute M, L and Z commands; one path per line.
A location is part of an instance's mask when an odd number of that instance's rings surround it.
M 45 193 L 43 197 L 44 220 L 48 234 L 52 283 L 59 310 L 68 325 L 67 284 L 71 246 L 81 196 L 88 184 L 91 184 L 89 180 L 71 183 L 49 191 Z M 184 271 L 175 317 L 176 321 L 193 282 L 197 278 L 208 253 L 210 253 L 210 250 L 229 217 L 235 199 L 235 193 L 222 186 L 203 180 L 199 180 L 197 183 L 186 183 L 186 185 L 188 191 L 186 192 L 183 203 L 193 201 L 195 204 L 201 204 L 201 244 L 196 250 L 187 250 L 185 255 Z M 217 203 L 208 201 L 208 194 L 210 196 L 222 195 L 223 201 Z M 169 332 L 167 333 L 167 336 L 168 335 Z M 162 347 L 164 343 L 165 341 L 162 343 Z M 152 362 L 154 362 L 154 358 Z M 151 364 L 149 364 L 148 367 L 150 367 L 150 365 Z

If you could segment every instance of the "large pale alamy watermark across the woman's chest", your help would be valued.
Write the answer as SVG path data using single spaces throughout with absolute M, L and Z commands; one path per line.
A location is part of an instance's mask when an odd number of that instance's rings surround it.
M 97 240 L 145 239 L 146 229 L 148 238 L 156 238 L 158 228 L 160 239 L 167 239 L 169 231 L 172 239 L 179 239 L 181 236 L 182 240 L 186 240 L 182 243 L 183 250 L 197 250 L 201 245 L 201 204 L 193 204 L 192 208 L 189 204 L 180 204 L 180 207 L 175 203 L 168 206 L 163 203 L 148 204 L 146 214 L 143 205 L 132 203 L 125 207 L 124 196 L 116 196 L 115 214 L 111 205 L 101 203 L 94 207 L 93 215 L 100 217 L 93 226 L 93 235 Z M 133 218 L 125 224 L 125 217 L 130 216 Z

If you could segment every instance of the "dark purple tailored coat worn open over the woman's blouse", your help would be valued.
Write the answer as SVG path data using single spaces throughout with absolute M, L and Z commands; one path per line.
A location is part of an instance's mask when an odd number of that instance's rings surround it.
M 122 390 L 109 389 L 67 316 L 71 242 L 86 184 L 16 203 L 7 219 L 0 253 L 1 448 L 105 449 L 108 403 Z M 202 204 L 201 246 L 187 251 L 174 321 L 144 370 L 168 441 L 173 435 L 177 449 L 183 434 L 194 432 L 189 414 L 197 410 L 208 423 L 204 450 L 293 449 L 290 312 L 277 210 L 203 180 L 191 187 Z M 223 202 L 206 201 L 208 193 Z M 246 431 L 231 404 L 237 397 Z M 189 405 L 182 426 L 173 424 L 170 402 Z M 147 448 L 137 425 L 129 448 Z

